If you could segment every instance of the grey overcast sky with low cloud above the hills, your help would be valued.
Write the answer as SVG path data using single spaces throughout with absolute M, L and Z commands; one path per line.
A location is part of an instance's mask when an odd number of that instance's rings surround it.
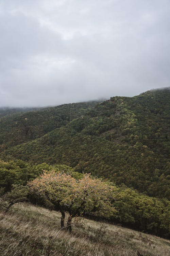
M 170 0 L 0 0 L 0 106 L 170 86 Z

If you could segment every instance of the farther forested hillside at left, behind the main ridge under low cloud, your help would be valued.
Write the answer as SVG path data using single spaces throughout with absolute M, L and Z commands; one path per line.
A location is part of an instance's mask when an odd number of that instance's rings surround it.
M 0 116 L 6 113 L 0 119 L 0 150 L 34 140 L 55 128 L 65 126 L 70 120 L 80 117 L 88 108 L 93 108 L 96 104 L 97 101 L 72 103 L 31 112 L 22 109 L 23 113 L 21 111 L 18 113 L 21 109 L 0 111 Z

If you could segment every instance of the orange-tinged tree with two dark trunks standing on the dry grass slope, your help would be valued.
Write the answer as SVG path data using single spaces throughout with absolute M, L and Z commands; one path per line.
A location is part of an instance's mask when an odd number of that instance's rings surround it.
M 115 213 L 111 203 L 114 187 L 84 174 L 76 180 L 64 172 L 44 172 L 40 177 L 28 183 L 30 192 L 49 200 L 54 209 L 61 212 L 61 227 L 64 227 L 65 213 L 69 213 L 67 229 L 71 231 L 73 217 L 83 214 L 97 214 L 109 217 Z

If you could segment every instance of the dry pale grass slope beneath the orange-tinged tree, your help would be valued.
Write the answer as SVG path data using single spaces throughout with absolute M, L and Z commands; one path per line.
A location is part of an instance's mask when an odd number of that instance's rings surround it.
M 110 224 L 74 221 L 60 230 L 60 214 L 31 204 L 16 204 L 0 214 L 1 256 L 168 256 L 168 240 Z M 55 239 L 56 237 L 56 239 Z

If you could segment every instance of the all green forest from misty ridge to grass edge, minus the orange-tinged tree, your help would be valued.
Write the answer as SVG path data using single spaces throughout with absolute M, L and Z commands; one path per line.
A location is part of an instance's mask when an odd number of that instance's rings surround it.
M 107 220 L 169 236 L 170 88 L 31 111 L 0 109 L 0 156 L 1 195 L 43 170 L 74 179 L 91 173 L 114 188 L 116 212 Z

